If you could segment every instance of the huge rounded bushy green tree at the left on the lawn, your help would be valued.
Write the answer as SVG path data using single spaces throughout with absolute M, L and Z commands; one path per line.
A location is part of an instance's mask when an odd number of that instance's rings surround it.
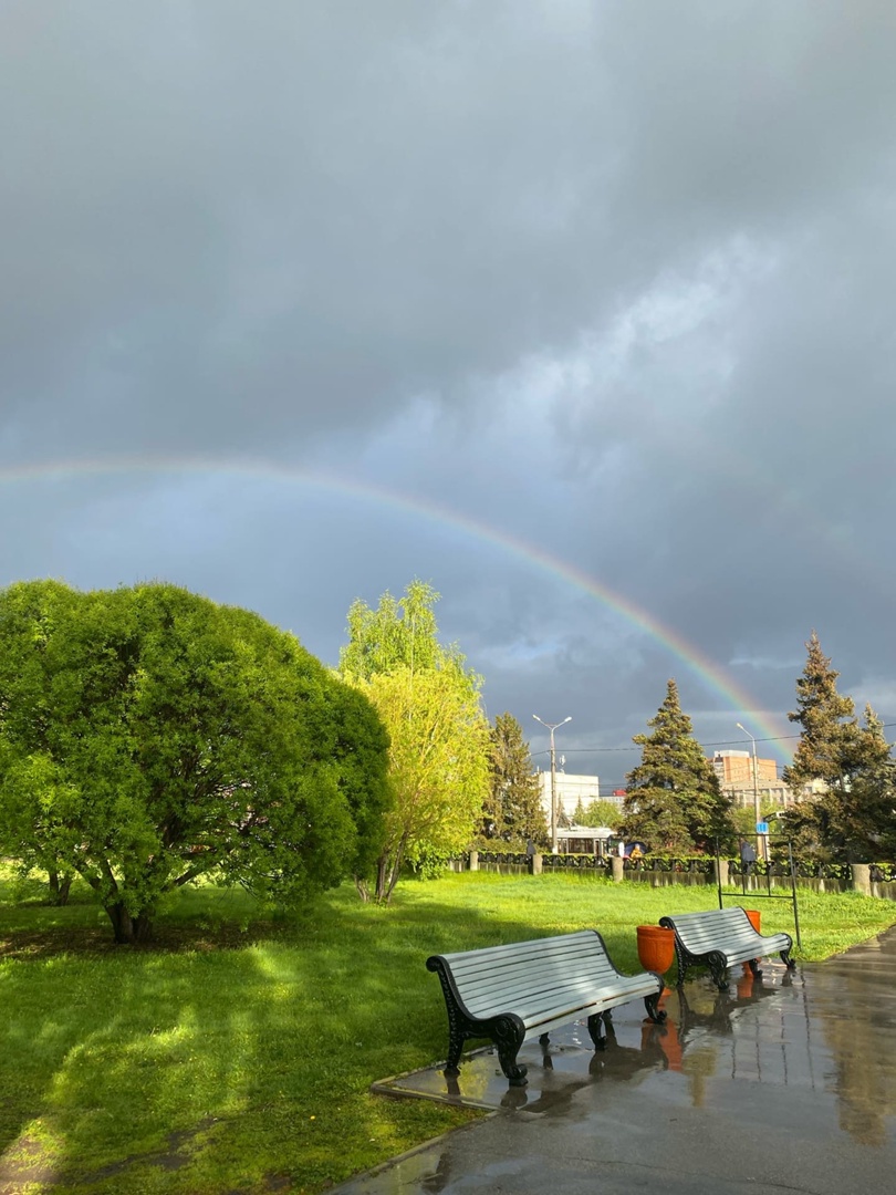
M 0 593 L 0 853 L 80 875 L 118 942 L 214 872 L 282 900 L 369 859 L 373 706 L 291 635 L 168 584 Z

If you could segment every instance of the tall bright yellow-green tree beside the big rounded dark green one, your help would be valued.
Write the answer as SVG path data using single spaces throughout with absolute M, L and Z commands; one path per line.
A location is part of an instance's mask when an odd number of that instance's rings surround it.
M 421 581 L 376 609 L 356 601 L 342 676 L 378 709 L 391 739 L 394 807 L 373 869 L 356 874 L 363 899 L 386 901 L 407 863 L 426 871 L 468 846 L 489 793 L 489 723 L 481 680 L 456 646 L 438 642 L 438 594 Z

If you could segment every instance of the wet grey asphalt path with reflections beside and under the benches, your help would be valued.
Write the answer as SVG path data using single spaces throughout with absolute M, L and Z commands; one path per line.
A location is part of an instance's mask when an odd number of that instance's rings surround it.
M 842 1195 L 896 1175 L 896 929 L 824 963 L 765 961 L 731 991 L 708 978 L 668 991 L 664 1025 L 615 1009 L 607 1048 L 584 1024 L 520 1053 L 509 1087 L 477 1050 L 456 1080 L 438 1068 L 383 1080 L 385 1096 L 473 1104 L 492 1115 L 337 1188 L 340 1195 L 741 1187 Z

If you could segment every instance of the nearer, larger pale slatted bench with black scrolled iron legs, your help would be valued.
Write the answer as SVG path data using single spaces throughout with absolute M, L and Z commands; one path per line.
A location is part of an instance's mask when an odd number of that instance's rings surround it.
M 662 975 L 622 975 L 596 930 L 432 955 L 426 967 L 437 973 L 448 1010 L 447 1076 L 460 1073 L 470 1037 L 491 1038 L 511 1086 L 523 1086 L 526 1067 L 516 1055 L 532 1037 L 546 1046 L 552 1029 L 587 1017 L 591 1041 L 602 1049 L 610 1010 L 639 997 L 651 1021 L 665 1019 L 657 1009 Z

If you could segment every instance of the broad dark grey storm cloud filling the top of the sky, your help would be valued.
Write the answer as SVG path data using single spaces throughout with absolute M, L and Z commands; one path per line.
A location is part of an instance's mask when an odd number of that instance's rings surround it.
M 7 16 L 8 390 L 68 437 L 270 446 L 448 400 L 790 231 L 889 127 L 852 14 L 263 12 Z

